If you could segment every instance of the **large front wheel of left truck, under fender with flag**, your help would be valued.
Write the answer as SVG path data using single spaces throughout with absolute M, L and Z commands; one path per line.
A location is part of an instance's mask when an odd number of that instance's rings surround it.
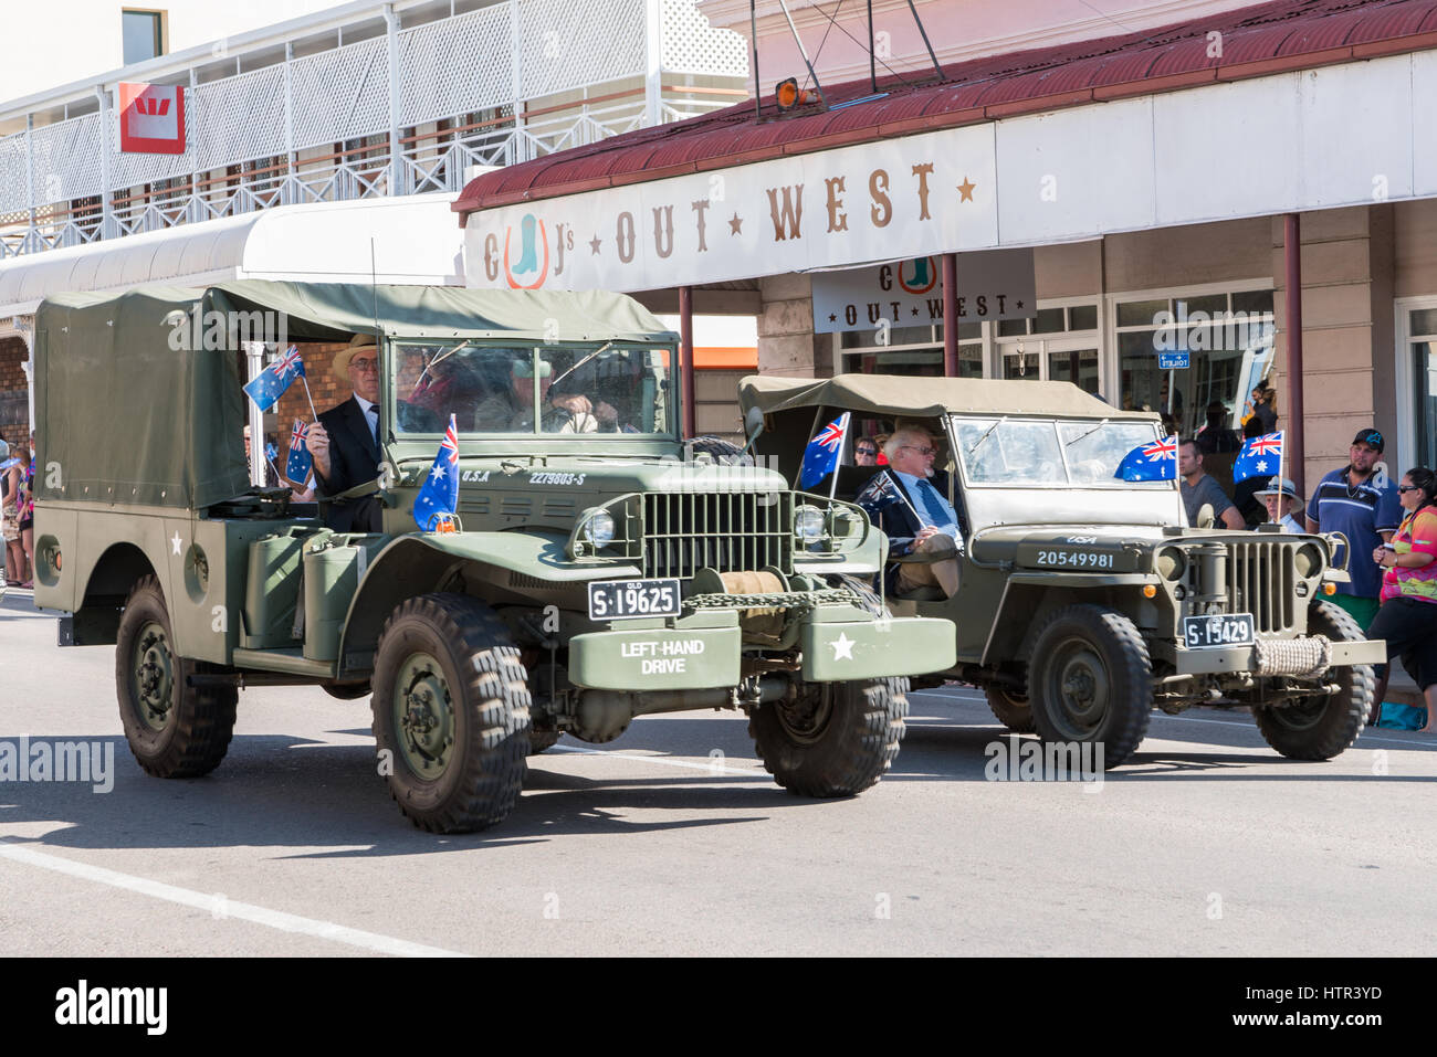
M 410 599 L 385 622 L 374 737 L 399 810 L 433 833 L 513 809 L 529 755 L 529 686 L 504 623 L 464 595 Z

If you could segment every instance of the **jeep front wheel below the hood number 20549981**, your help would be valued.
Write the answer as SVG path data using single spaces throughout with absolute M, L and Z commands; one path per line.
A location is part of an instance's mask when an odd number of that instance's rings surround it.
M 1122 613 L 1095 605 L 1066 606 L 1038 635 L 1027 692 L 1043 741 L 1102 745 L 1104 767 L 1117 767 L 1148 730 L 1148 648 Z

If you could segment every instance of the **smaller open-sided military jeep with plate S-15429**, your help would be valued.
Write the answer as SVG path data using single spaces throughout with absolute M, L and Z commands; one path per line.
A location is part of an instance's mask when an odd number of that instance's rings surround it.
M 1298 760 L 1357 738 L 1385 652 L 1325 600 L 1346 579 L 1336 543 L 1187 527 L 1175 480 L 1117 475 L 1131 451 L 1164 442 L 1157 415 L 1071 382 L 885 375 L 749 376 L 740 404 L 756 451 L 786 477 L 815 422 L 844 411 L 849 437 L 917 427 L 934 438 L 958 587 L 887 605 L 950 618 L 957 658 L 944 675 L 983 688 L 1012 730 L 1102 745 L 1106 767 L 1137 750 L 1152 707 L 1250 707 L 1267 744 Z M 875 467 L 835 472 L 815 491 L 854 498 L 882 484 Z

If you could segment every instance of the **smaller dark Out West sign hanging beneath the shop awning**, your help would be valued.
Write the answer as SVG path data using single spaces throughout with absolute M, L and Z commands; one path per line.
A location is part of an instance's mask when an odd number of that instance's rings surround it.
M 813 333 L 943 322 L 938 257 L 813 276 Z M 958 323 L 1025 319 L 1038 315 L 1032 250 L 958 254 Z

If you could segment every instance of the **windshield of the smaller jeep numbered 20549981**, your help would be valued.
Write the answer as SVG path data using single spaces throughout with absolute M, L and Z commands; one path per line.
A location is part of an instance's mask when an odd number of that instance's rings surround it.
M 1114 477 L 1124 455 L 1160 438 L 1155 422 L 966 418 L 953 437 L 970 485 L 1019 488 L 1171 488 L 1171 481 Z

